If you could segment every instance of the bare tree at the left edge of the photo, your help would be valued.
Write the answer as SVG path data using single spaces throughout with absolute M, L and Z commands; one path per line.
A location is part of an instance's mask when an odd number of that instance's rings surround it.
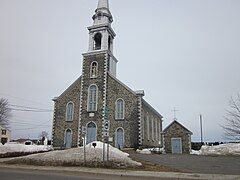
M 10 126 L 11 108 L 7 99 L 0 99 L 0 125 L 6 128 Z

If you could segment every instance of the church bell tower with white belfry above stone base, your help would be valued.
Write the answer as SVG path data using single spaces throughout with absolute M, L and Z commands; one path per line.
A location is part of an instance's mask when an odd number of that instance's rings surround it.
M 93 25 L 88 27 L 88 51 L 83 54 L 79 145 L 83 143 L 81 137 L 84 133 L 84 127 L 87 131 L 91 130 L 91 132 L 86 132 L 87 139 L 91 142 L 101 140 L 104 136 L 108 74 L 116 77 L 118 62 L 113 55 L 113 41 L 116 34 L 111 27 L 113 17 L 109 10 L 108 0 L 98 1 L 92 19 Z

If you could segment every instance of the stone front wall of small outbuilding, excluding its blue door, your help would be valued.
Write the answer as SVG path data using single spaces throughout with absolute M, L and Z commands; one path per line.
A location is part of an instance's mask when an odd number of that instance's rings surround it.
M 178 123 L 173 123 L 164 131 L 164 147 L 166 153 L 172 153 L 171 138 L 182 139 L 182 153 L 190 153 L 191 150 L 191 134 Z

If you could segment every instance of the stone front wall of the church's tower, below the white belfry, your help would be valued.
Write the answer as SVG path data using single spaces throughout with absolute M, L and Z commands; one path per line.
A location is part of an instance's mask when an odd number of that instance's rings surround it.
M 102 119 L 104 109 L 104 92 L 105 92 L 105 72 L 107 68 L 107 54 L 106 52 L 99 52 L 95 54 L 84 55 L 83 59 L 83 79 L 82 79 L 82 109 L 81 109 L 81 127 L 87 126 L 88 123 L 94 122 L 97 126 L 97 140 L 102 141 Z M 96 78 L 90 77 L 90 66 L 93 61 L 98 63 L 98 76 Z M 87 110 L 88 104 L 88 89 L 91 84 L 98 87 L 97 111 L 89 112 Z M 91 116 L 90 116 L 91 113 Z M 81 134 L 82 136 L 82 134 Z M 80 138 L 80 145 L 83 141 Z

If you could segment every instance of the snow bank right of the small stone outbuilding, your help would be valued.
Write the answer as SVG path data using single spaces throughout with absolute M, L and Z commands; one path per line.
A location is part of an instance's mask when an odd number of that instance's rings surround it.
M 218 146 L 202 146 L 200 151 L 193 151 L 196 155 L 240 155 L 240 144 L 221 144 Z

